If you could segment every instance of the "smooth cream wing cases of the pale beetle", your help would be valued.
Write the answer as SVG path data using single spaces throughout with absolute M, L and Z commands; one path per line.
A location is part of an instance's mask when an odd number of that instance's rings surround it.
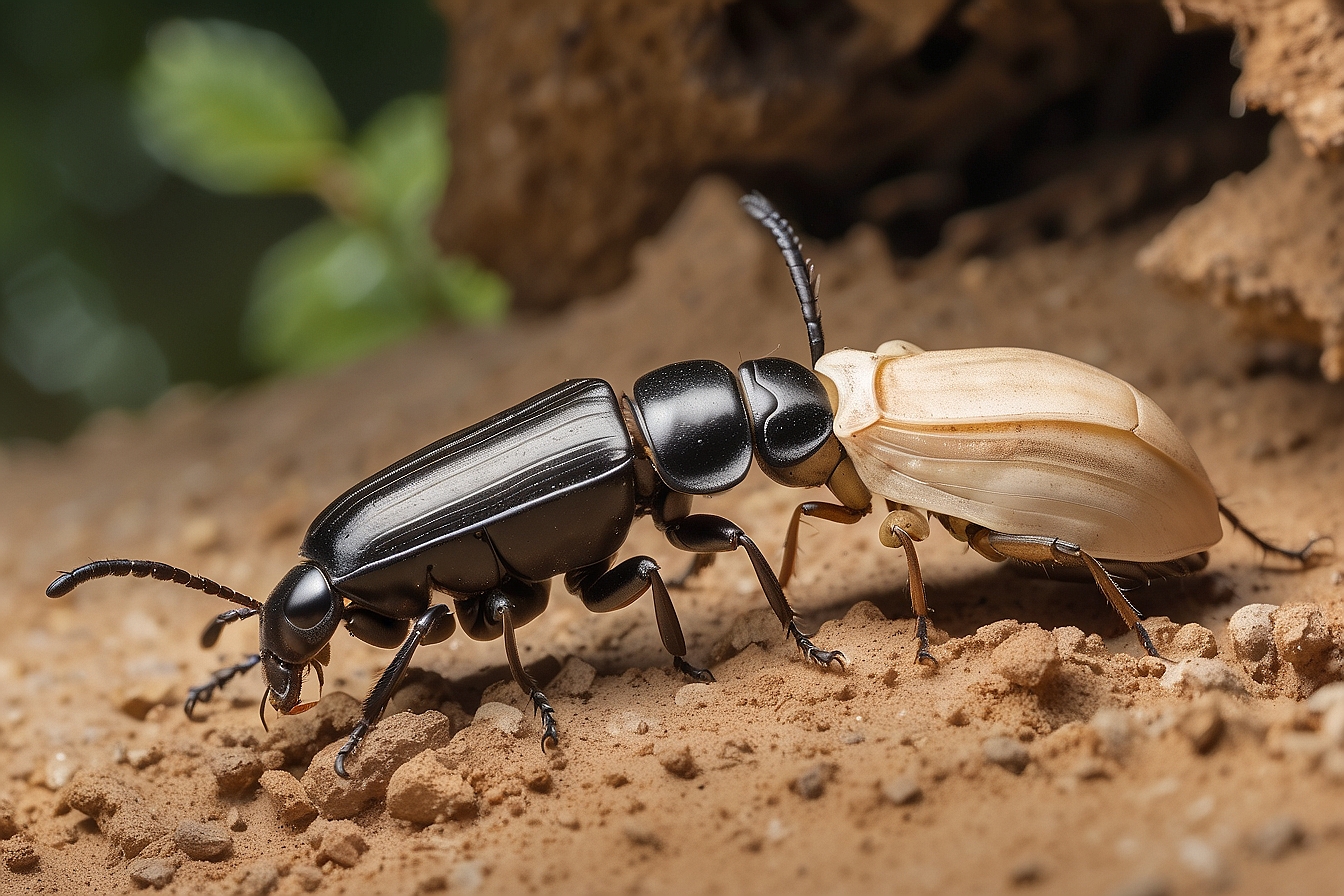
M 829 352 L 816 372 L 859 478 L 890 501 L 1138 563 L 1222 537 L 1189 442 L 1152 399 L 1095 367 L 898 340 Z

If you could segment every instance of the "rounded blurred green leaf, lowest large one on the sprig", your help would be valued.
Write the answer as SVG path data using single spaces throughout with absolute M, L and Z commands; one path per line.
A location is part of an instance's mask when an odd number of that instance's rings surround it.
M 384 238 L 328 218 L 266 253 L 243 341 L 265 367 L 305 371 L 405 339 L 427 317 Z

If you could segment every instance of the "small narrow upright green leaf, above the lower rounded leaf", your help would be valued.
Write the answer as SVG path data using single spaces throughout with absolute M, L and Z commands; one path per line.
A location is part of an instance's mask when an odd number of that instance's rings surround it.
M 444 98 L 411 94 L 383 106 L 355 145 L 367 211 L 422 235 L 448 180 Z

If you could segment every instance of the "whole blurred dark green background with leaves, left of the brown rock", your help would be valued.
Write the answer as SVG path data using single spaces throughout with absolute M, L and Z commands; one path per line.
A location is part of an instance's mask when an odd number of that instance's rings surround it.
M 497 314 L 425 227 L 444 51 L 425 0 L 0 4 L 0 438 Z

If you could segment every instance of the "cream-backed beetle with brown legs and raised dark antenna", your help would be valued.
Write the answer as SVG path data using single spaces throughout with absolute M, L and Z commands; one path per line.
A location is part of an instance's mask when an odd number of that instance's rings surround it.
M 742 207 L 784 253 L 844 449 L 827 482 L 840 502 L 793 512 L 782 584 L 802 517 L 857 523 L 878 496 L 887 504 L 879 539 L 903 549 L 910 572 L 917 662 L 937 664 L 914 547 L 930 519 L 989 560 L 1086 575 L 1157 657 L 1121 586 L 1203 570 L 1223 535 L 1219 513 L 1263 551 L 1309 562 L 1317 540 L 1289 551 L 1247 529 L 1176 424 L 1105 371 L 1025 348 L 925 352 L 902 340 L 827 353 L 816 277 L 793 228 L 759 193 Z

